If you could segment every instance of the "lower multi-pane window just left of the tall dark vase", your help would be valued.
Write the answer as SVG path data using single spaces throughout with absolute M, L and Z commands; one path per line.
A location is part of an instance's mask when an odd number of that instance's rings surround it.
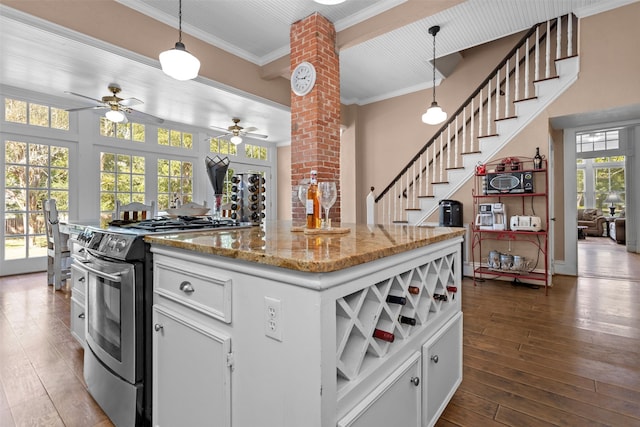
M 193 200 L 193 164 L 180 160 L 158 160 L 158 210 Z

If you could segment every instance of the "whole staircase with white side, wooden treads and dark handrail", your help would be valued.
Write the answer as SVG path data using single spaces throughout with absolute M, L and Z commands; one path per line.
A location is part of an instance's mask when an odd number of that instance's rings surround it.
M 578 78 L 577 20 L 534 25 L 370 204 L 377 224 L 418 225 Z M 534 148 L 527 152 L 533 155 Z M 371 207 L 371 205 L 373 205 Z M 371 212 L 373 210 L 373 212 Z

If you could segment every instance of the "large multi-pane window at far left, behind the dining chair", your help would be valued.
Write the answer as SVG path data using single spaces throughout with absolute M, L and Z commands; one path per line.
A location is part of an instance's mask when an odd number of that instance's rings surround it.
M 5 260 L 46 256 L 42 201 L 56 199 L 60 218 L 69 211 L 69 149 L 5 141 Z

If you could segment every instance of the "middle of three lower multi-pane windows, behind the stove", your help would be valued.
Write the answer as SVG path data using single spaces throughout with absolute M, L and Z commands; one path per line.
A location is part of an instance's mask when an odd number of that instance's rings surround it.
M 106 226 L 120 203 L 145 203 L 145 159 L 128 154 L 100 153 L 100 224 Z

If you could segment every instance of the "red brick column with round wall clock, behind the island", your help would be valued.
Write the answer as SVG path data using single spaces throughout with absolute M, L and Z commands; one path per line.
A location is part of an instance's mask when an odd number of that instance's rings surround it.
M 303 61 L 316 69 L 316 84 L 305 96 L 291 92 L 291 186 L 318 171 L 318 181 L 332 180 L 338 200 L 330 214 L 340 221 L 340 61 L 333 23 L 314 13 L 291 26 L 291 71 Z M 304 208 L 292 191 L 292 218 L 300 223 Z M 323 211 L 324 214 L 324 211 Z

